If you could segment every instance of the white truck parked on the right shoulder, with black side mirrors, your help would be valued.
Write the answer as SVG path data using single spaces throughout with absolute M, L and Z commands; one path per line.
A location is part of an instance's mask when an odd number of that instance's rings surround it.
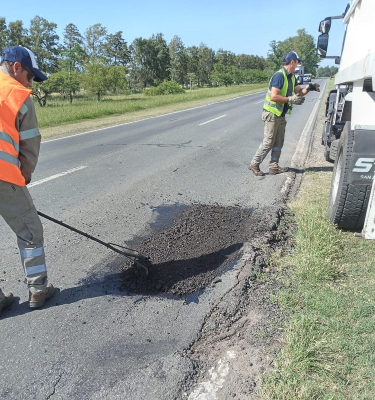
M 341 56 L 327 56 L 331 20 L 343 18 Z M 317 54 L 339 70 L 326 103 L 322 144 L 334 162 L 328 216 L 346 230 L 361 230 L 375 176 L 375 1 L 353 0 L 319 24 Z

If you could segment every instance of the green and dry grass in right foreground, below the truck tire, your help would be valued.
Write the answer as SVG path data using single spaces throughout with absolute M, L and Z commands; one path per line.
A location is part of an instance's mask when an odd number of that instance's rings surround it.
M 291 313 L 263 400 L 375 399 L 375 243 L 331 226 L 331 172 L 309 172 L 295 214 L 295 248 L 279 261 L 292 282 L 272 300 Z

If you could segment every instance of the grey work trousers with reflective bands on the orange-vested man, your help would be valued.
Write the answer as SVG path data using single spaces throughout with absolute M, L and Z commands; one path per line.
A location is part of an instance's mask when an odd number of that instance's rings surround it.
M 43 226 L 26 186 L 0 180 L 0 214 L 17 236 L 25 283 L 33 294 L 47 286 Z M 5 266 L 3 266 L 5 267 Z M 4 295 L 0 289 L 0 298 Z

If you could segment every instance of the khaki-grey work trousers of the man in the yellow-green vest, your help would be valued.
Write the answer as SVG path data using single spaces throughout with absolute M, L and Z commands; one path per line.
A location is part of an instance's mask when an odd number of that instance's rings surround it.
M 281 149 L 284 144 L 285 127 L 287 121 L 284 117 L 278 117 L 272 112 L 263 111 L 262 120 L 264 125 L 264 139 L 259 146 L 252 163 L 259 165 L 271 150 L 271 161 L 269 162 L 270 168 L 277 168 L 279 165 L 279 158 Z

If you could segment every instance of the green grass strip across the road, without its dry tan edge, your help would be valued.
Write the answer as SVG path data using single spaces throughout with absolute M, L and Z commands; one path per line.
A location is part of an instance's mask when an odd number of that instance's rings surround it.
M 68 122 L 78 122 L 92 118 L 101 118 L 110 115 L 120 115 L 138 110 L 168 106 L 176 103 L 186 103 L 187 106 L 194 100 L 214 99 L 221 96 L 241 95 L 265 89 L 267 84 L 251 84 L 223 88 L 205 88 L 187 91 L 184 94 L 164 96 L 106 95 L 98 102 L 91 96 L 77 96 L 72 104 L 54 96 L 47 100 L 46 107 L 36 104 L 36 114 L 40 128 L 58 126 Z

